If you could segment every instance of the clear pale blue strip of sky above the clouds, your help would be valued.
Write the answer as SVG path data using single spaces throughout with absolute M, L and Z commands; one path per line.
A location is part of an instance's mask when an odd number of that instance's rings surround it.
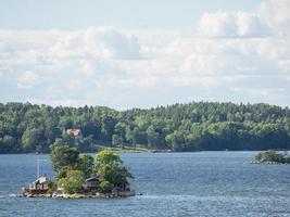
M 190 28 L 204 12 L 255 12 L 262 0 L 5 0 L 0 27 L 13 29 Z

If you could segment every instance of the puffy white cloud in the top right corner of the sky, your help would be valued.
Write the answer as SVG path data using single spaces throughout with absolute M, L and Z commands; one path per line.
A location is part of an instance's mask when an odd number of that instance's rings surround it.
M 204 13 L 198 33 L 205 37 L 265 37 L 290 33 L 290 1 L 268 0 L 256 13 L 219 11 Z

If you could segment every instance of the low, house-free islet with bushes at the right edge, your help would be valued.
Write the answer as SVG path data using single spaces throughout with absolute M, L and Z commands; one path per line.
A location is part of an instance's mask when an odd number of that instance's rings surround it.
M 290 164 L 290 155 L 287 152 L 280 153 L 274 150 L 260 152 L 253 164 Z

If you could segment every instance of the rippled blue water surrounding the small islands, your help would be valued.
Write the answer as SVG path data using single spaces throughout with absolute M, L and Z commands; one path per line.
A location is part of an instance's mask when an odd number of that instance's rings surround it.
M 0 155 L 0 216 L 290 217 L 290 165 L 250 165 L 255 154 L 122 154 L 143 195 L 114 200 L 18 197 L 36 176 L 36 156 Z M 41 158 L 51 177 L 49 156 Z

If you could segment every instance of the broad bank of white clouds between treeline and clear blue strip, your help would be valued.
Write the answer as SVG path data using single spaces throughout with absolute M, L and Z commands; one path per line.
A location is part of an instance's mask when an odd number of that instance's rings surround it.
M 0 30 L 0 98 L 123 108 L 188 99 L 285 104 L 290 97 L 285 3 L 269 0 L 256 13 L 206 13 L 199 34 Z M 278 23 L 265 17 L 269 8 Z

